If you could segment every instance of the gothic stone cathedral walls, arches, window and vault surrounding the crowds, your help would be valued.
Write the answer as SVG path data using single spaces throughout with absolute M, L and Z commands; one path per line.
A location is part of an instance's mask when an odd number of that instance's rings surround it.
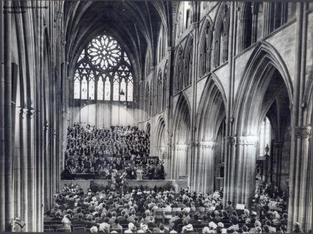
M 70 124 L 134 124 L 166 180 L 313 229 L 313 3 L 0 1 L 0 230 L 43 231 Z M 45 8 L 46 7 L 46 8 Z

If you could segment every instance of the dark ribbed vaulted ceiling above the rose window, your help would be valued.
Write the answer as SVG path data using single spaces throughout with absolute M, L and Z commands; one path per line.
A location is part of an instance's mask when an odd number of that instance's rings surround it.
M 160 23 L 168 30 L 169 7 L 162 1 L 65 1 L 64 34 L 70 69 L 94 36 L 108 34 L 124 46 L 136 75 L 141 77 L 146 50 L 156 50 Z

